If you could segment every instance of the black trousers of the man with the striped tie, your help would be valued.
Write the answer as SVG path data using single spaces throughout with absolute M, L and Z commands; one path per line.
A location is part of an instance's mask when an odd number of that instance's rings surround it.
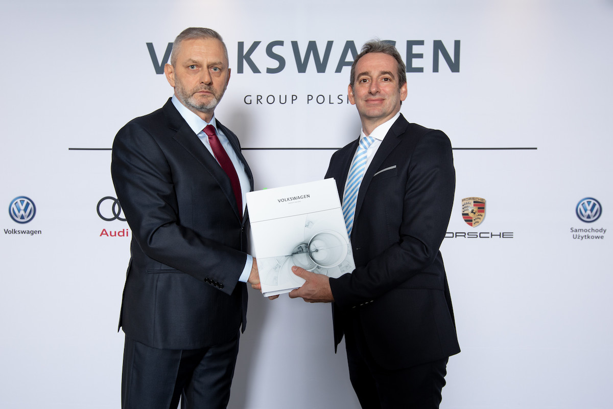
M 382 367 L 369 351 L 357 316 L 345 326 L 349 378 L 364 409 L 438 409 L 449 358 L 409 368 Z

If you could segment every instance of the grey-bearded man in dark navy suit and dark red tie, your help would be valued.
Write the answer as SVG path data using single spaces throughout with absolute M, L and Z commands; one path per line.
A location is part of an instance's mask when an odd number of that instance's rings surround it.
M 188 28 L 164 69 L 174 95 L 113 142 L 112 177 L 132 229 L 120 327 L 122 408 L 224 408 L 245 330 L 251 170 L 214 116 L 230 69 L 211 29 Z

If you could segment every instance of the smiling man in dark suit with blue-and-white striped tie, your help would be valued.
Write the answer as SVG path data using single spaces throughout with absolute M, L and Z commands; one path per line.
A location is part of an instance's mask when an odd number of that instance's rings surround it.
M 405 64 L 392 45 L 364 45 L 348 93 L 362 132 L 326 177 L 337 181 L 356 269 L 328 278 L 293 267 L 307 281 L 289 295 L 333 302 L 335 345 L 344 334 L 363 408 L 438 408 L 460 351 L 439 251 L 454 200 L 451 143 L 400 114 Z

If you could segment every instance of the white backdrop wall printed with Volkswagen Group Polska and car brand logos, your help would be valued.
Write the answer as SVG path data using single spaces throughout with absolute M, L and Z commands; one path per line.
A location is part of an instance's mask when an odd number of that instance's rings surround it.
M 462 353 L 443 407 L 611 407 L 613 2 L 345 3 L 1 0 L 0 204 L 26 196 L 36 215 L 0 216 L 0 407 L 120 406 L 131 236 L 101 218 L 112 200 L 98 204 L 115 195 L 116 131 L 172 94 L 155 66 L 188 26 L 226 40 L 216 116 L 240 137 L 256 189 L 323 177 L 360 128 L 349 67 L 336 72 L 352 60 L 343 50 L 395 41 L 417 71 L 403 115 L 455 147 L 442 251 Z M 310 42 L 319 58 L 300 69 Z M 462 219 L 465 197 L 486 201 L 479 226 Z M 592 223 L 576 215 L 585 197 L 601 205 Z M 358 407 L 329 305 L 252 291 L 248 320 L 230 408 Z

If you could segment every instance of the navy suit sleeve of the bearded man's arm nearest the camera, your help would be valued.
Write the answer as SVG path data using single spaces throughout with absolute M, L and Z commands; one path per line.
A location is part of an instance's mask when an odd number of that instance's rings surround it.
M 118 132 L 113 142 L 111 174 L 132 239 L 143 253 L 232 293 L 247 255 L 179 223 L 169 161 L 142 125 L 131 122 Z

